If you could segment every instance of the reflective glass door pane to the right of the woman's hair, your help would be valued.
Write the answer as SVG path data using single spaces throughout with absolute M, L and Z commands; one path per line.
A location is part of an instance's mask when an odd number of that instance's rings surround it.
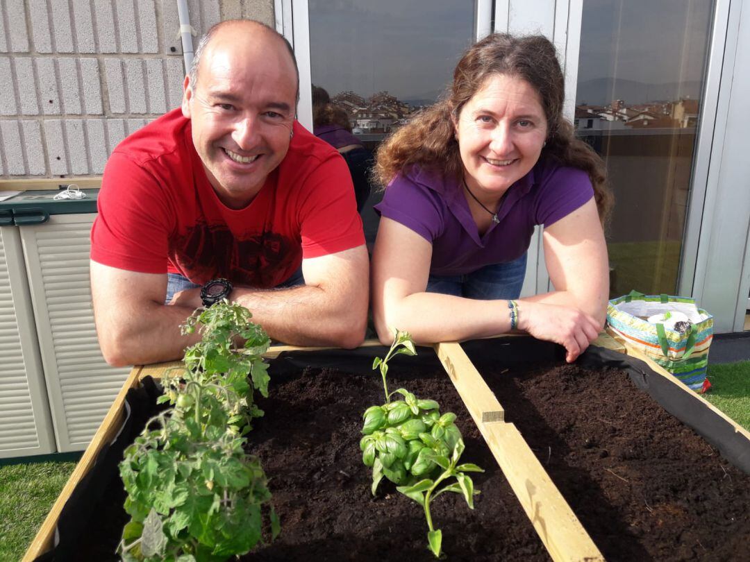
M 584 0 L 574 124 L 607 162 L 613 296 L 674 294 L 713 3 Z

